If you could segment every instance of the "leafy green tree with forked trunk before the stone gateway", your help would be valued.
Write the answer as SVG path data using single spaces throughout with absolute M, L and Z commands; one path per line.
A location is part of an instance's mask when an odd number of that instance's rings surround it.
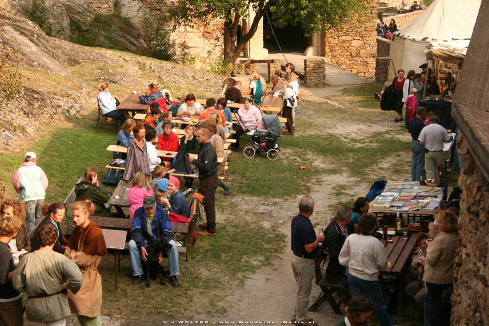
M 174 27 L 193 27 L 196 22 L 223 19 L 224 59 L 229 60 L 229 71 L 267 11 L 272 13 L 276 27 L 301 26 L 308 36 L 328 26 L 338 26 L 353 14 L 365 13 L 369 4 L 369 0 L 177 0 L 172 16 Z M 250 6 L 256 16 L 248 32 L 236 43 L 238 25 L 248 17 Z

